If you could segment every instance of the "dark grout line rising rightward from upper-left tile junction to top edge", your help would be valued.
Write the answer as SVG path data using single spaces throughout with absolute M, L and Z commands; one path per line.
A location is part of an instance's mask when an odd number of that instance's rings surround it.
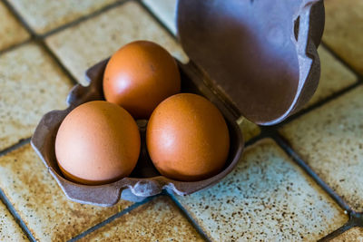
M 81 23 L 83 23 L 83 22 L 85 22 L 85 21 L 87 21 L 87 20 L 89 20 L 89 19 L 91 19 L 93 17 L 96 17 L 98 15 L 102 15 L 104 12 L 107 12 L 107 11 L 117 7 L 117 6 L 123 5 L 123 4 L 125 4 L 126 2 L 129 2 L 129 1 L 130 0 L 119 0 L 119 1 L 116 1 L 116 2 L 114 2 L 112 4 L 110 4 L 110 5 L 105 5 L 102 8 L 97 9 L 96 11 L 94 11 L 94 12 L 88 14 L 88 15 L 83 15 L 83 16 L 75 19 L 74 21 L 70 22 L 70 23 L 63 24 L 61 26 L 55 27 L 54 29 L 52 29 L 52 30 L 50 30 L 50 31 L 48 31 L 48 32 L 46 32 L 44 34 L 39 34 L 39 36 L 41 38 L 46 38 L 46 37 L 48 37 L 48 36 L 50 36 L 52 34 L 57 34 L 57 33 L 61 32 L 61 31 L 63 31 L 64 29 L 66 29 L 66 28 L 73 27 L 73 26 L 75 26 L 77 24 L 81 24 Z

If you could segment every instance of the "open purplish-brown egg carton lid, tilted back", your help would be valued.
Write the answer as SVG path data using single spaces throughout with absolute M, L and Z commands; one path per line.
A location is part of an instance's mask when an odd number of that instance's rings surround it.
M 322 0 L 179 0 L 176 11 L 185 53 L 248 120 L 279 123 L 318 87 Z

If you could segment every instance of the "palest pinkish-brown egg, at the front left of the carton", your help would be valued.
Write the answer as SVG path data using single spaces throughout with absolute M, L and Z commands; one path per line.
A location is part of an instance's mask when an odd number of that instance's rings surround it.
M 86 102 L 62 122 L 55 155 L 67 179 L 104 184 L 127 177 L 140 154 L 140 132 L 122 107 L 104 101 Z

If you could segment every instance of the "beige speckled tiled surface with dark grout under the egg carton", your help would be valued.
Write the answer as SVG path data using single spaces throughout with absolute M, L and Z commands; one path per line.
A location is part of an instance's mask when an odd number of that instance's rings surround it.
M 321 79 L 276 127 L 240 118 L 236 169 L 211 189 L 112 208 L 68 200 L 29 144 L 74 81 L 148 39 L 187 62 L 175 0 L 0 0 L 0 241 L 361 241 L 363 4 L 326 1 Z

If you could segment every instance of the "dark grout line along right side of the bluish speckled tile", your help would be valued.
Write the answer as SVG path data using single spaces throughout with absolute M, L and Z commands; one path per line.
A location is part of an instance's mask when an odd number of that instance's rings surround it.
M 288 143 L 283 139 L 283 137 L 281 137 L 279 133 L 276 133 L 275 135 L 272 136 L 272 139 L 275 140 L 280 145 L 280 148 L 284 150 L 292 158 L 292 160 L 294 160 L 295 163 L 299 165 L 301 169 L 303 169 L 306 173 L 308 173 L 308 175 L 312 179 L 315 180 L 315 182 L 319 185 L 320 188 L 322 188 L 329 194 L 330 198 L 332 198 L 340 208 L 342 208 L 345 212 L 348 213 L 348 216 L 350 218 L 351 213 L 353 211 L 348 206 L 346 201 L 340 196 L 338 196 L 338 194 L 333 189 L 331 189 L 329 185 L 325 183 L 325 181 L 321 179 L 318 176 L 318 174 L 315 173 L 315 171 L 311 169 L 309 165 L 305 163 L 305 161 L 302 160 L 294 150 L 292 150 L 292 148 L 289 147 Z

